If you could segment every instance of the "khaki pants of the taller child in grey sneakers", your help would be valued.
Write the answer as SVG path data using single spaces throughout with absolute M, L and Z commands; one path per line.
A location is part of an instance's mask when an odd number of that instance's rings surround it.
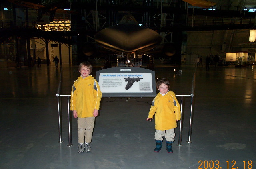
M 92 142 L 95 117 L 77 118 L 78 143 Z

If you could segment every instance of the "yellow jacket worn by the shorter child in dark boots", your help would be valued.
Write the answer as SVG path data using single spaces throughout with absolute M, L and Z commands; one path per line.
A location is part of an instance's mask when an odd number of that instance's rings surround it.
M 156 130 L 169 130 L 177 127 L 180 120 L 180 104 L 174 92 L 169 91 L 164 96 L 159 92 L 154 98 L 148 113 L 148 118 L 155 114 Z

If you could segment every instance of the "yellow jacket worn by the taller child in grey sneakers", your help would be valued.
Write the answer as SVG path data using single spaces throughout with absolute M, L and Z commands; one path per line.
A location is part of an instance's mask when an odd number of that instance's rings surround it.
M 70 110 L 76 110 L 78 117 L 93 117 L 94 109 L 100 108 L 101 95 L 96 79 L 80 76 L 72 86 Z

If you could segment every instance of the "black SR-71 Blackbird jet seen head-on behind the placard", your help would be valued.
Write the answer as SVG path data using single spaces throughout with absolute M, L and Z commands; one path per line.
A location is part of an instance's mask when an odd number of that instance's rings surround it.
M 140 26 L 132 14 L 126 14 L 117 25 L 102 29 L 95 35 L 96 43 L 86 42 L 83 53 L 86 56 L 110 51 L 130 57 L 162 53 L 167 57 L 175 54 L 172 43 L 163 43 L 160 34 L 152 29 Z

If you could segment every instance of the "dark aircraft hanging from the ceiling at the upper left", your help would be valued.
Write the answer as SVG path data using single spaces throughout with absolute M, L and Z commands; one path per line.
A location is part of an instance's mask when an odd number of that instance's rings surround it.
M 66 13 L 72 14 L 76 13 L 75 11 L 64 10 L 61 9 L 60 6 L 63 6 L 65 0 L 44 0 L 40 4 L 34 4 L 32 2 L 26 2 L 22 0 L 8 0 L 13 4 L 24 6 L 27 8 L 33 8 L 38 11 L 37 21 L 39 22 L 42 18 L 42 15 L 46 14 L 47 12 L 50 13 L 49 21 L 52 22 L 55 16 L 55 13 Z

